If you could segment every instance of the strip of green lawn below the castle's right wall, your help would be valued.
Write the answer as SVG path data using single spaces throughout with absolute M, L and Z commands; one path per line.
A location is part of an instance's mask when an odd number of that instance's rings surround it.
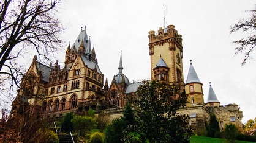
M 192 136 L 190 143 L 227 143 L 227 141 L 225 141 L 225 139 L 220 139 L 220 138 L 209 138 L 209 137 L 205 137 L 205 136 Z M 236 141 L 236 143 L 246 143 L 246 141 Z M 247 143 L 249 143 L 249 142 L 247 142 Z

